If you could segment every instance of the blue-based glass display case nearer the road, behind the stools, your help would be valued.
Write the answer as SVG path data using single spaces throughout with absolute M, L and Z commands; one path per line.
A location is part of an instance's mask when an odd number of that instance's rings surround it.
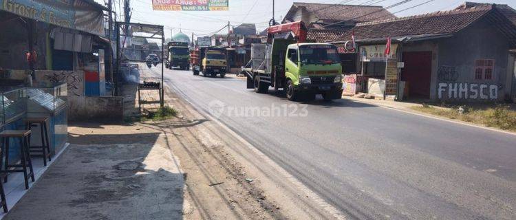
M 28 117 L 47 117 L 47 131 L 50 139 L 50 150 L 61 150 L 67 141 L 67 84 L 48 84 L 39 87 L 27 87 Z M 32 142 L 41 144 L 39 127 L 33 127 Z

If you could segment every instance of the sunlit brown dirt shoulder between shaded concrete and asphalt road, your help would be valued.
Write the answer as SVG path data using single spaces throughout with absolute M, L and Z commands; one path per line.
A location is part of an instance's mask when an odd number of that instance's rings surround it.
M 165 103 L 180 112 L 178 118 L 137 125 L 165 133 L 163 141 L 178 157 L 185 174 L 184 199 L 191 204 L 184 219 L 343 219 L 169 87 Z M 136 104 L 127 103 L 131 106 Z

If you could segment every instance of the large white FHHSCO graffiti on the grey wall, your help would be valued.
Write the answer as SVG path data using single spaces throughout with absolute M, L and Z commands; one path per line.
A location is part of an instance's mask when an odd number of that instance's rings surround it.
M 478 83 L 439 83 L 438 98 L 440 100 L 496 100 L 498 85 Z

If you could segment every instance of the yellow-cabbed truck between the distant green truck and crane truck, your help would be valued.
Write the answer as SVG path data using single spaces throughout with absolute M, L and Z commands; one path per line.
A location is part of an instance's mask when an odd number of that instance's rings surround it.
M 197 76 L 226 76 L 226 50 L 217 47 L 200 47 L 191 51 L 191 64 L 193 75 Z

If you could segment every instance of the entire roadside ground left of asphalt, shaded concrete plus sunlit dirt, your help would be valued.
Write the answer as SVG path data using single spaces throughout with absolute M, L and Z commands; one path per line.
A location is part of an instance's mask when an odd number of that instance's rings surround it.
M 70 146 L 6 219 L 344 219 L 170 88 L 165 102 L 178 117 L 70 124 Z

